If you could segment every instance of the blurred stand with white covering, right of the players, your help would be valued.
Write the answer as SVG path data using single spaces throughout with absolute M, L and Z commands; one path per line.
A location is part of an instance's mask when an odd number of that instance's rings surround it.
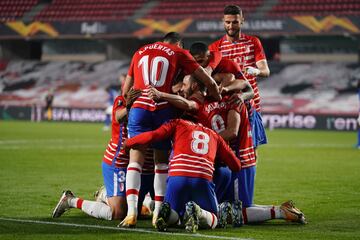
M 279 64 L 278 64 L 279 65 Z M 269 79 L 261 81 L 263 109 L 267 112 L 356 113 L 357 64 L 303 63 L 270 66 Z

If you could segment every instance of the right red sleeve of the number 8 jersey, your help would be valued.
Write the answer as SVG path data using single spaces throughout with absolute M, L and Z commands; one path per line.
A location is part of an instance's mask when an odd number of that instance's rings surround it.
M 241 169 L 240 160 L 235 156 L 230 147 L 226 144 L 222 137 L 218 137 L 217 154 L 219 160 L 224 162 L 229 168 L 238 172 Z

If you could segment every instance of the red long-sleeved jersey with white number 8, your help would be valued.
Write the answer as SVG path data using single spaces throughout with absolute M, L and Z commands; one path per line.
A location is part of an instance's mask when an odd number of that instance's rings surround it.
M 234 171 L 240 162 L 225 141 L 213 130 L 200 124 L 174 119 L 160 128 L 139 134 L 126 141 L 128 147 L 149 144 L 172 137 L 173 157 L 169 176 L 185 176 L 212 180 L 215 157 Z

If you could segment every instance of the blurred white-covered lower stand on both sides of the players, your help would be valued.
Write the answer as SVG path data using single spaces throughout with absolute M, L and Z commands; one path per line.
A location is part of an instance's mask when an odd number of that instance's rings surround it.
M 106 87 L 118 84 L 129 61 L 39 62 L 10 61 L 0 70 L 0 105 L 29 106 L 54 89 L 57 107 L 106 105 Z M 4 66 L 4 64 L 3 64 Z M 358 65 L 301 63 L 270 66 L 269 79 L 259 88 L 266 112 L 356 113 Z M 278 71 L 278 72 L 277 72 Z

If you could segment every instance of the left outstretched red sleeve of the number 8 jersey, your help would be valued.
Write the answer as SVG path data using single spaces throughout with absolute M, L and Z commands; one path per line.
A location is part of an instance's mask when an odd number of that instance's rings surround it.
M 125 141 L 125 145 L 128 148 L 132 148 L 137 145 L 146 145 L 169 138 L 175 130 L 177 124 L 176 121 L 177 120 L 170 120 L 154 131 L 144 132 L 135 137 L 129 138 Z

